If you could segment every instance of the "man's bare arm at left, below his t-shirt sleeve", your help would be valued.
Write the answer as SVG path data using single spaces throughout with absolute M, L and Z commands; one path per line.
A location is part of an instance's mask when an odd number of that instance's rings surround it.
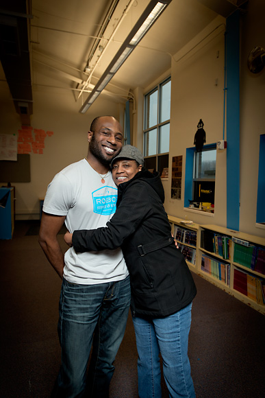
M 51 215 L 42 212 L 38 242 L 47 259 L 62 279 L 64 254 L 60 248 L 57 234 L 64 224 L 65 215 Z

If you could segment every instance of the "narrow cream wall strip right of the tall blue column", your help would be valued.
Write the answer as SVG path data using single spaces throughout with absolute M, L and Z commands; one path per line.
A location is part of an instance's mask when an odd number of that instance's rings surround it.
M 265 49 L 264 15 L 264 1 L 249 1 L 242 15 L 240 71 L 240 231 L 263 237 L 265 229 L 255 220 L 260 134 L 265 134 L 265 69 L 257 75 L 249 72 L 247 57 L 256 46 Z

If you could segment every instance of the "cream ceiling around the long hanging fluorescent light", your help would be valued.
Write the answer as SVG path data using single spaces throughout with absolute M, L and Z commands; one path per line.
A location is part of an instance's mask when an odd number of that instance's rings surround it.
M 27 14 L 32 16 L 27 19 L 31 86 L 72 90 L 77 98 L 90 76 L 84 72 L 88 56 L 113 0 L 20 1 L 27 3 Z M 8 3 L 9 7 L 14 3 L 13 10 L 16 11 L 19 1 L 10 0 Z M 86 87 L 86 91 L 91 91 L 97 83 L 148 3 L 149 0 L 117 2 L 103 34 L 104 40 L 99 43 L 101 50 L 107 43 L 108 47 L 90 76 L 90 86 Z M 148 86 L 171 67 L 173 54 L 197 36 L 218 14 L 227 16 L 230 9 L 233 11 L 236 8 L 236 3 L 236 0 L 172 0 L 106 89 L 119 92 L 118 87 L 125 89 L 125 93 L 138 86 Z M 116 27 L 121 15 L 123 21 Z M 115 27 L 116 32 L 112 33 Z M 106 40 L 108 37 L 111 40 Z M 97 50 L 90 64 L 92 67 L 99 54 Z M 0 79 L 5 79 L 1 68 Z M 86 99 L 88 92 L 83 95 Z

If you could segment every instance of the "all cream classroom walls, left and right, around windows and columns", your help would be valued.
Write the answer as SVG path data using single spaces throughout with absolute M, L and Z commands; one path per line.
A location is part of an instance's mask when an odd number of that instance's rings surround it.
M 264 134 L 265 71 L 253 75 L 247 69 L 247 56 L 256 45 L 265 48 L 265 2 L 251 0 L 247 12 L 240 16 L 240 231 L 265 236 L 265 229 L 255 224 L 257 206 L 257 174 L 260 134 Z M 226 226 L 226 151 L 218 151 L 216 159 L 216 210 L 214 215 L 184 209 L 186 148 L 194 146 L 199 119 L 203 119 L 206 143 L 216 143 L 224 134 L 224 67 L 225 19 L 213 23 L 174 54 L 171 71 L 157 76 L 148 87 L 134 91 L 134 127 L 132 143 L 142 149 L 143 95 L 171 74 L 171 141 L 170 174 L 164 182 L 168 214 L 194 220 L 199 224 Z M 54 84 L 56 86 L 56 84 Z M 0 82 L 1 132 L 12 134 L 21 128 L 14 106 L 6 102 L 8 87 Z M 2 93 L 2 94 L 1 94 Z M 3 97 L 2 97 L 3 95 Z M 123 104 L 101 95 L 85 115 L 78 110 L 71 91 L 34 87 L 34 115 L 31 126 L 52 130 L 45 139 L 43 154 L 31 154 L 31 182 L 16 183 L 16 220 L 38 218 L 39 198 L 45 195 L 51 178 L 66 165 L 86 156 L 87 131 L 97 115 L 114 115 L 121 120 Z M 2 98 L 5 98 L 3 102 Z M 75 104 L 73 106 L 73 104 Z M 226 131 L 225 131 L 226 134 Z M 226 138 L 226 135 L 225 135 Z M 228 143 L 229 145 L 229 143 Z M 183 156 L 181 200 L 171 199 L 171 165 L 173 156 Z

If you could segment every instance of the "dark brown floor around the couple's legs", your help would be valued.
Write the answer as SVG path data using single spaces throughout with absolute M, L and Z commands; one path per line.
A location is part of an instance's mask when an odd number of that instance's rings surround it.
M 1 398 L 49 398 L 60 366 L 60 279 L 36 233 L 38 223 L 16 222 L 13 239 L 0 240 Z M 59 239 L 66 248 L 62 234 Z M 265 316 L 201 277 L 194 280 L 189 352 L 197 398 L 264 398 Z M 136 362 L 129 317 L 110 398 L 138 397 Z M 168 397 L 164 382 L 162 390 Z

